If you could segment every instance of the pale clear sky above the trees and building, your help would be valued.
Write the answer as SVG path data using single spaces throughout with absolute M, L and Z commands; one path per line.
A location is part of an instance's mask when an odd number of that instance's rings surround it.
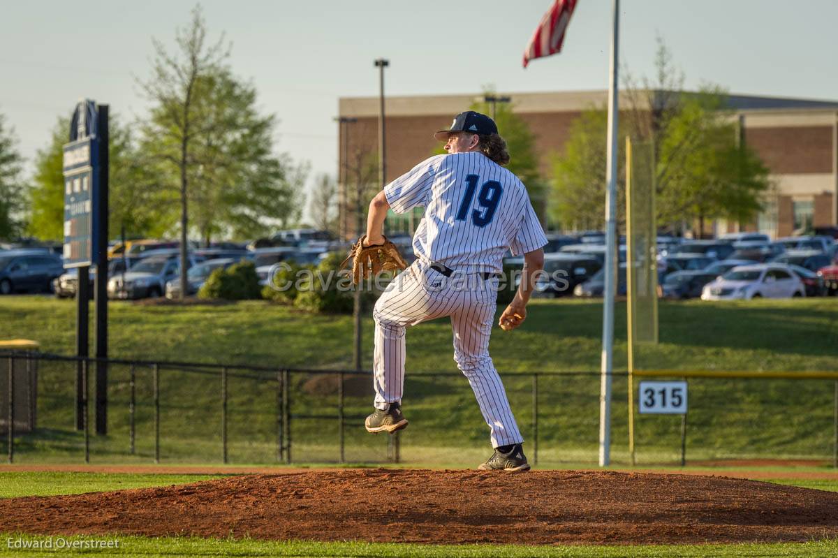
M 279 119 L 277 151 L 335 173 L 340 96 L 375 96 L 373 60 L 390 59 L 389 95 L 592 90 L 608 86 L 611 0 L 578 0 L 561 54 L 527 70 L 521 55 L 551 0 L 401 2 L 204 0 L 210 37 Z M 11 2 L 0 10 L 0 113 L 27 173 L 59 115 L 89 97 L 122 121 L 142 116 L 152 37 L 173 43 L 194 3 Z M 731 92 L 838 100 L 835 0 L 622 0 L 621 64 L 652 69 L 655 34 L 685 71 Z M 463 107 L 465 108 L 465 107 Z M 453 115 L 452 115 L 453 116 Z M 447 122 L 443 122 L 446 124 Z M 417 131 L 417 133 L 427 133 Z M 416 153 L 417 161 L 427 153 Z

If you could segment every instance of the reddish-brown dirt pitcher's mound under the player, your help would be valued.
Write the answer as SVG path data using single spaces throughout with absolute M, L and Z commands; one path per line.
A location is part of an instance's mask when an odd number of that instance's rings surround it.
M 838 536 L 838 493 L 602 471 L 344 470 L 0 499 L 0 531 L 422 543 L 703 543 Z

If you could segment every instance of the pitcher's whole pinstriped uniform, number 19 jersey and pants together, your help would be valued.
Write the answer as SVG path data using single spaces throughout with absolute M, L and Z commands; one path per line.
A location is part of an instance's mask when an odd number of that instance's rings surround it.
M 502 272 L 507 248 L 517 256 L 546 245 L 524 184 L 483 153 L 457 152 L 419 163 L 384 194 L 396 213 L 423 206 L 425 217 L 413 238 L 416 261 L 375 303 L 375 407 L 386 411 L 401 402 L 406 328 L 449 317 L 454 360 L 472 387 L 492 446 L 523 442 L 489 357 L 499 279 L 478 271 Z M 458 281 L 463 278 L 473 281 Z

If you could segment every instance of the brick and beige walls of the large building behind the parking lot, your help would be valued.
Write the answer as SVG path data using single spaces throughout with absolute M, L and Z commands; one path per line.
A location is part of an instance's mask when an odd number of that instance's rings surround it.
M 572 122 L 585 109 L 604 107 L 608 100 L 608 92 L 604 90 L 509 95 L 513 110 L 535 135 L 541 173 L 546 177 L 551 174 L 552 158 L 564 149 Z M 429 157 L 440 147 L 432 137 L 433 132 L 449 127 L 454 115 L 480 100 L 482 94 L 386 98 L 387 181 Z M 740 108 L 736 113 L 744 127 L 744 141 L 758 152 L 778 186 L 776 198 L 766 200 L 766 206 L 772 208 L 770 215 L 767 211 L 758 222 L 772 234 L 790 235 L 794 230 L 794 201 L 810 200 L 815 226 L 838 225 L 838 102 L 819 104 L 742 96 L 737 96 L 737 100 L 742 106 L 760 107 Z M 627 101 L 622 96 L 623 106 Z M 813 107 L 813 104 L 822 106 Z M 377 156 L 378 111 L 377 97 L 339 100 L 340 116 L 357 119 L 341 127 L 338 145 L 341 168 L 344 152 L 350 153 L 350 160 L 353 153 L 354 159 L 359 153 Z M 348 142 L 344 130 L 348 132 Z M 503 130 L 500 133 L 503 135 Z M 515 153 L 511 155 L 515 157 Z M 722 226 L 727 230 L 756 230 L 758 225 L 726 223 Z M 355 231 L 348 230 L 347 234 L 354 235 Z

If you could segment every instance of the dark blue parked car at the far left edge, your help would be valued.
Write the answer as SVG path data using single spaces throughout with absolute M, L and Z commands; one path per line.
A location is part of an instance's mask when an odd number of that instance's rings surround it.
M 53 280 L 62 273 L 64 264 L 52 251 L 0 252 L 0 294 L 51 292 Z

